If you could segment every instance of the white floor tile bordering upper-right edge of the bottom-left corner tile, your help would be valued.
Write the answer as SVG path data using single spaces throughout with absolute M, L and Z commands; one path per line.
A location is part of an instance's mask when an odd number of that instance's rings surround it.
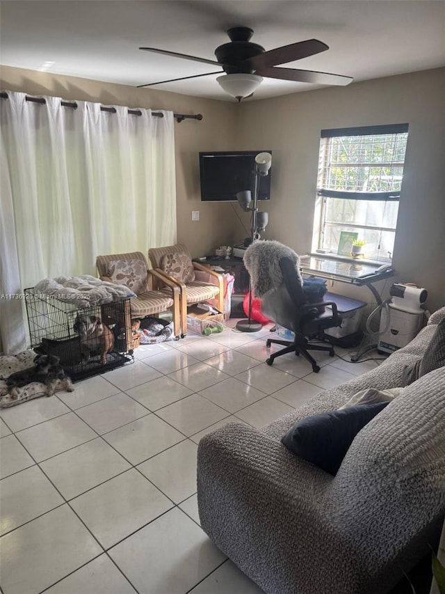
M 173 505 L 136 469 L 111 478 L 72 499 L 70 504 L 105 549 L 145 526 Z

